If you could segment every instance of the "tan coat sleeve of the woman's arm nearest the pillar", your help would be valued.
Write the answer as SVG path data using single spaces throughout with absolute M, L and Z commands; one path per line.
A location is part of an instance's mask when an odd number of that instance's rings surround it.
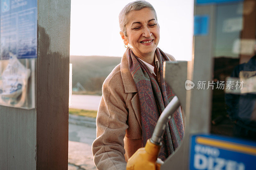
M 114 75 L 107 78 L 102 86 L 96 118 L 97 138 L 92 144 L 93 160 L 100 170 L 126 169 L 124 136 L 128 128 L 128 111 L 125 105 L 127 94 L 123 83 L 118 83 L 118 80 L 118 75 Z

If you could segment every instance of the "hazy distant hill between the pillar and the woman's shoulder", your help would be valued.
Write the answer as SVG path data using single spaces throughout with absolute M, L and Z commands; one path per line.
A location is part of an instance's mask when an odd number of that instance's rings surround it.
M 86 91 L 101 92 L 103 81 L 120 61 L 121 57 L 70 55 L 72 86 L 80 82 Z

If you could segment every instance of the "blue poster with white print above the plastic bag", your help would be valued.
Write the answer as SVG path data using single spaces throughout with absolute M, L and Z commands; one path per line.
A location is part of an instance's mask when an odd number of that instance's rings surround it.
M 37 0 L 0 0 L 0 59 L 37 57 Z

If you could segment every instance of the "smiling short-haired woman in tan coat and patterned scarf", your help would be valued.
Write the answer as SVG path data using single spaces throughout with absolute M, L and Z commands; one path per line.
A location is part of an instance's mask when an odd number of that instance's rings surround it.
M 92 144 L 98 169 L 125 169 L 126 161 L 151 137 L 164 108 L 174 97 L 163 78 L 163 62 L 175 61 L 157 47 L 156 11 L 146 1 L 127 4 L 119 14 L 127 48 L 121 63 L 103 83 Z M 168 123 L 159 158 L 165 160 L 181 143 L 184 128 L 178 108 Z

